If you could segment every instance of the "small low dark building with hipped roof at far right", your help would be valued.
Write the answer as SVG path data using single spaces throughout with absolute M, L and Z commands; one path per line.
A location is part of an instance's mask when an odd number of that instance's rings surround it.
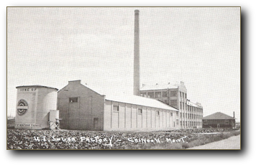
M 202 118 L 203 128 L 234 128 L 235 118 L 221 112 Z

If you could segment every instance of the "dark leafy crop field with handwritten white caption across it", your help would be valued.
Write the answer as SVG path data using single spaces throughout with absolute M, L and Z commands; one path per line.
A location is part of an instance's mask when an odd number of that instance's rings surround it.
M 7 149 L 184 149 L 238 134 L 239 131 L 209 129 L 155 132 L 9 129 Z

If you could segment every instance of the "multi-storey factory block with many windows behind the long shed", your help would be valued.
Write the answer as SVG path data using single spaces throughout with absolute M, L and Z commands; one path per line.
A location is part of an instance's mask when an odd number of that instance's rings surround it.
M 140 95 L 146 98 L 160 100 L 179 110 L 180 128 L 201 128 L 203 107 L 200 103 L 192 103 L 187 99 L 187 89 L 184 83 L 166 85 L 142 85 Z

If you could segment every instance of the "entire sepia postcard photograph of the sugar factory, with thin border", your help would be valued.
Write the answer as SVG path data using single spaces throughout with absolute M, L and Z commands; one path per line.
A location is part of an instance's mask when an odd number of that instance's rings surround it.
M 241 150 L 241 7 L 6 7 L 6 150 Z

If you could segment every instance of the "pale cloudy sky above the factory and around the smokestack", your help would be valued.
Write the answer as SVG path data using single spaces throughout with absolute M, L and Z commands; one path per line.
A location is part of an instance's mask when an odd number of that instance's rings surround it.
M 7 115 L 19 85 L 132 95 L 135 9 L 140 85 L 183 81 L 204 116 L 240 121 L 239 7 L 7 7 Z

